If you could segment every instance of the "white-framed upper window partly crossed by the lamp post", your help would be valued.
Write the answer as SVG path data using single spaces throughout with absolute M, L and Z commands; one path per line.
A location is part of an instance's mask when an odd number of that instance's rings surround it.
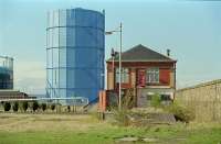
M 119 68 L 116 68 L 115 78 L 116 82 L 119 82 Z M 129 82 L 129 68 L 122 68 L 122 82 L 123 84 Z

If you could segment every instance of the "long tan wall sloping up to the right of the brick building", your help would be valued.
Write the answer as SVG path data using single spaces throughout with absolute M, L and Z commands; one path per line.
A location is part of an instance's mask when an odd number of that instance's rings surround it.
M 176 101 L 194 111 L 197 121 L 221 121 L 221 79 L 177 90 Z

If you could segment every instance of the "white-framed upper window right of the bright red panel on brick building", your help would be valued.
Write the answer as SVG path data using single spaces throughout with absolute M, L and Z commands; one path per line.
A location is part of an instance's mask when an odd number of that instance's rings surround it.
M 159 68 L 152 67 L 147 69 L 147 84 L 158 84 L 159 82 Z

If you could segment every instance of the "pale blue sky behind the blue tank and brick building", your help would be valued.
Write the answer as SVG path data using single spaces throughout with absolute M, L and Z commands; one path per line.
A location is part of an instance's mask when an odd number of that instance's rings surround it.
M 46 11 L 106 12 L 106 30 L 123 22 L 124 49 L 146 45 L 178 59 L 178 87 L 221 78 L 221 2 L 145 0 L 0 0 L 0 55 L 14 57 L 15 88 L 44 92 Z M 106 57 L 118 35 L 106 36 Z

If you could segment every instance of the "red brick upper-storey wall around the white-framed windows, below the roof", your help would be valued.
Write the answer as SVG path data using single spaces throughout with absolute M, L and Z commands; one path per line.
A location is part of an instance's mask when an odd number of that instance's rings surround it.
M 175 88 L 175 79 L 176 79 L 176 63 L 173 62 L 123 62 L 122 66 L 125 68 L 129 68 L 129 82 L 122 84 L 123 88 L 134 88 L 137 82 L 137 73 L 138 70 L 146 70 L 150 67 L 159 68 L 159 84 L 147 84 L 147 86 L 170 86 Z M 114 67 L 118 67 L 118 63 L 114 63 Z M 107 89 L 114 89 L 117 85 L 114 81 L 113 74 L 113 63 L 107 62 Z

